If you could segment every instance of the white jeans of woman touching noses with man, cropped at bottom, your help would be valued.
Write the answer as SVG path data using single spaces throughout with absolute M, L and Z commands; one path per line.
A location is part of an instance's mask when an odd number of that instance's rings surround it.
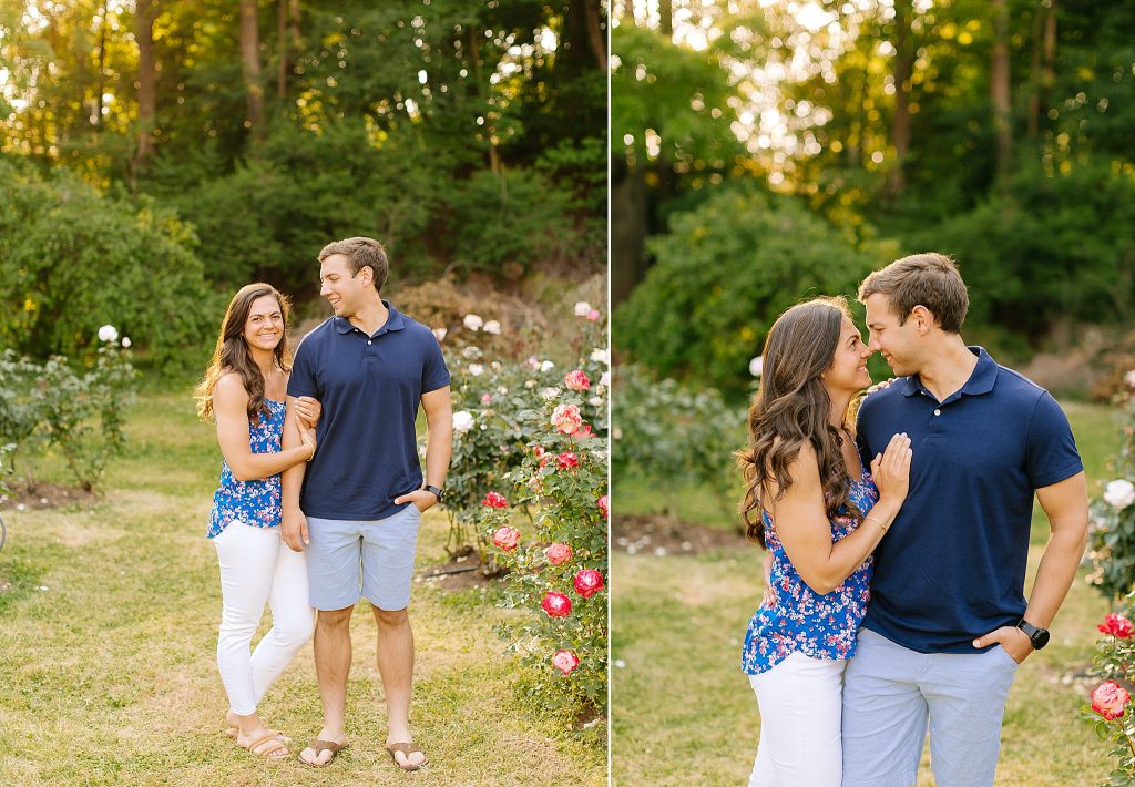
M 749 787 L 840 787 L 846 665 L 792 653 L 767 672 L 749 676 L 760 709 Z

